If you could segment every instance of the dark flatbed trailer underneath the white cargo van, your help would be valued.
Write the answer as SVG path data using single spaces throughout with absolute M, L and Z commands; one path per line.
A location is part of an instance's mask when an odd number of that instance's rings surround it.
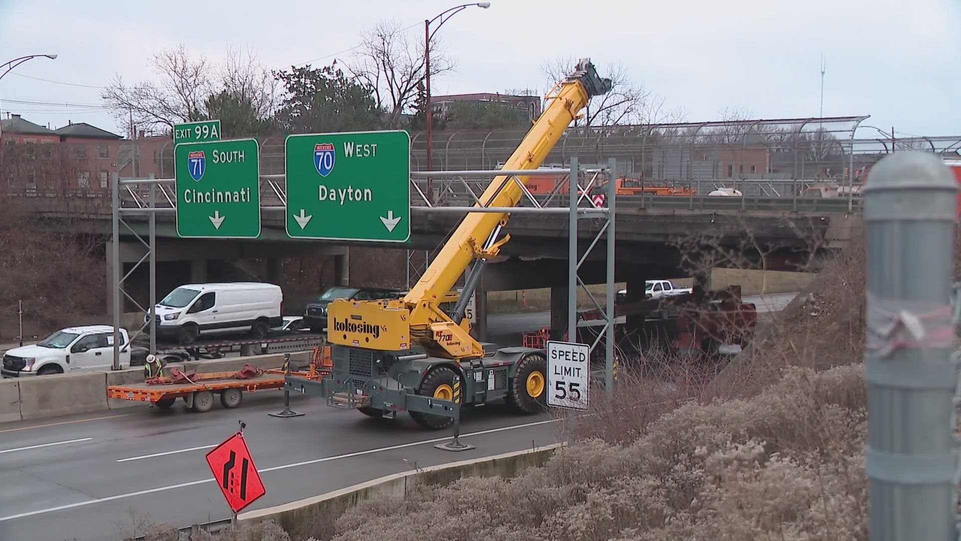
M 270 334 L 261 339 L 230 338 L 198 341 L 189 346 L 177 343 L 157 343 L 157 356 L 164 363 L 199 361 L 202 359 L 221 359 L 227 353 L 238 351 L 241 356 L 265 355 L 292 351 L 307 351 L 322 345 L 323 334 L 297 331 L 294 333 Z M 149 347 L 148 340 L 135 340 L 140 348 Z

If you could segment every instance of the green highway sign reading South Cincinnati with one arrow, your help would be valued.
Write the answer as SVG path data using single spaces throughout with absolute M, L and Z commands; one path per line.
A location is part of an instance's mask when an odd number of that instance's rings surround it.
M 174 147 L 177 236 L 256 239 L 260 167 L 256 139 L 182 142 Z

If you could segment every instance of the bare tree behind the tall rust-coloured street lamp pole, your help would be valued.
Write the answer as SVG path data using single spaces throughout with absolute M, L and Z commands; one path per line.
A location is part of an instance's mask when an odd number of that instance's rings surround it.
M 437 43 L 431 39 L 431 77 L 454 69 L 454 61 Z M 348 70 L 374 92 L 387 127 L 397 127 L 401 116 L 414 106 L 426 73 L 424 52 L 424 43 L 410 39 L 396 20 L 379 22 L 361 35 Z

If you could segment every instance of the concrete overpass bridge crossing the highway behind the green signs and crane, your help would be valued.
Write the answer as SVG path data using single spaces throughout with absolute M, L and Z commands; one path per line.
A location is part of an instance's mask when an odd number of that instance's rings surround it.
M 280 178 L 278 178 L 280 177 Z M 176 193 L 170 182 L 158 181 L 155 188 L 156 258 L 159 265 L 180 263 L 181 271 L 158 273 L 159 294 L 187 281 L 204 281 L 210 261 L 245 258 L 267 259 L 265 279 L 276 279 L 280 258 L 330 255 L 334 260 L 335 283 L 347 278 L 350 247 L 372 246 L 401 250 L 431 250 L 443 243 L 463 212 L 451 207 L 473 203 L 478 188 L 464 179 L 434 181 L 429 205 L 423 181 L 412 182 L 411 236 L 403 245 L 293 240 L 284 231 L 285 186 L 283 175 L 261 179 L 261 233 L 256 240 L 180 239 L 176 233 Z M 797 193 L 797 192 L 794 192 Z M 109 195 L 109 194 L 108 194 Z M 41 219 L 44 227 L 64 232 L 83 232 L 111 237 L 111 198 L 80 191 L 32 191 L 14 194 L 19 203 Z M 533 196 L 539 204 L 560 207 L 566 195 Z M 149 206 L 148 190 L 124 186 L 121 207 L 136 213 Z M 715 267 L 755 265 L 768 270 L 799 270 L 812 256 L 843 247 L 860 223 L 861 201 L 842 197 L 800 197 L 754 195 L 720 196 L 621 196 L 615 202 L 617 265 L 615 279 L 639 283 L 665 275 L 689 271 L 691 252 L 697 252 Z M 591 205 L 585 198 L 582 206 Z M 520 206 L 533 206 L 525 200 Z M 120 231 L 120 261 L 126 273 L 143 258 L 145 248 L 136 238 L 146 239 L 148 213 L 127 215 Z M 581 252 L 601 229 L 603 219 L 579 220 Z M 503 291 L 563 287 L 567 283 L 568 218 L 566 215 L 515 214 L 507 232 L 511 241 L 502 249 L 502 261 L 485 272 L 481 289 Z M 110 250 L 107 252 L 110 253 Z M 737 253 L 736 258 L 727 255 Z M 685 255 L 686 254 L 686 255 Z M 725 255 L 727 254 L 727 255 Z M 185 270 L 189 263 L 188 271 Z M 111 273 L 110 258 L 107 261 Z M 604 250 L 594 249 L 582 267 L 585 283 L 604 282 Z M 136 279 L 136 276 L 134 277 Z M 110 280 L 109 280 L 110 282 Z M 177 283 L 179 282 L 179 283 Z M 144 284 L 145 285 L 145 284 Z M 631 288 L 632 289 L 632 288 Z M 110 297 L 110 296 L 108 296 Z M 479 306 L 479 311 L 482 312 Z M 480 330 L 480 329 L 479 329 Z

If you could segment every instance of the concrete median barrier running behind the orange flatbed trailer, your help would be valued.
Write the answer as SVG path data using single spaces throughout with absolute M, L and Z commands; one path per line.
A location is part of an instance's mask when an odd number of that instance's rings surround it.
M 291 359 L 299 361 L 301 365 L 307 364 L 309 358 L 309 351 L 291 354 Z M 236 372 L 246 364 L 259 369 L 280 368 L 283 365 L 283 353 L 173 363 L 167 367 L 210 373 Z M 143 406 L 144 402 L 141 401 L 107 398 L 108 386 L 140 381 L 143 381 L 142 367 L 120 371 L 78 370 L 68 374 L 0 379 L 0 423 Z M 278 398 L 280 396 L 278 394 Z

